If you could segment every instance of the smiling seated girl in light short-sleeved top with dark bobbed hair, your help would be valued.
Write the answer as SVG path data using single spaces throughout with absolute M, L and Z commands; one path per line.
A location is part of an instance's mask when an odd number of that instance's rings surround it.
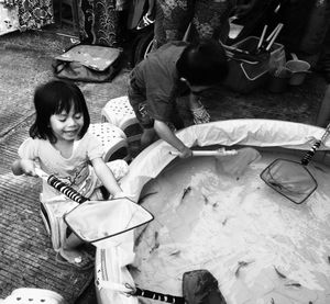
M 87 133 L 90 119 L 80 89 L 74 83 L 52 80 L 35 90 L 34 106 L 36 117 L 30 128 L 31 137 L 19 148 L 20 159 L 12 165 L 13 173 L 36 177 L 35 167 L 38 166 L 84 196 L 96 199 L 100 185 L 112 196 L 122 196 L 117 179 L 128 172 L 128 164 L 124 160 L 105 164 L 102 160 L 101 144 Z M 58 194 L 43 182 L 42 203 L 56 200 Z M 65 260 L 78 267 L 85 264 L 82 252 L 76 249 L 81 244 L 78 237 L 74 234 L 66 237 L 63 232 L 62 235 L 59 248 L 53 244 L 54 249 Z

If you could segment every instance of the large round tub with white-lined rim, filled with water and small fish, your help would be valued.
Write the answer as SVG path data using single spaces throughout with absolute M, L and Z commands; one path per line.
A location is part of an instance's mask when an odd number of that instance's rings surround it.
M 163 140 L 142 151 L 130 165 L 122 188 L 135 201 L 154 193 L 143 205 L 155 219 L 145 228 L 143 240 L 139 239 L 142 245 L 136 252 L 133 233 L 111 238 L 97 249 L 99 304 L 136 304 L 136 297 L 121 292 L 125 283 L 180 296 L 183 272 L 201 268 L 217 278 L 228 304 L 330 303 L 330 140 L 309 165 L 319 188 L 304 204 L 283 198 L 258 177 L 274 158 L 299 159 L 323 132 L 283 121 L 232 120 L 194 125 L 178 133 L 188 146 L 257 149 L 262 159 L 238 179 L 222 176 L 216 180 L 215 159 L 210 158 L 206 160 L 210 167 L 199 172 L 200 158 L 175 158 L 169 155 L 173 148 Z M 182 176 L 177 176 L 179 170 Z M 211 178 L 206 184 L 204 174 Z M 191 193 L 178 203 L 175 198 L 186 181 Z M 215 189 L 221 192 L 220 198 Z M 207 196 L 200 203 L 198 191 Z M 179 216 L 182 222 L 174 221 Z M 211 259 L 200 262 L 205 256 Z M 128 270 L 132 263 L 138 271 Z

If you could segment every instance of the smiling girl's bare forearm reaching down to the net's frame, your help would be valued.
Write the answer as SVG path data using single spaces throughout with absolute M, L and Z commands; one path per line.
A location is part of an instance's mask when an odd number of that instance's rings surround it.
M 122 193 L 122 190 L 119 187 L 112 171 L 109 169 L 109 167 L 106 165 L 102 158 L 94 158 L 91 160 L 91 165 L 95 169 L 97 177 L 113 196 L 117 196 L 118 194 Z

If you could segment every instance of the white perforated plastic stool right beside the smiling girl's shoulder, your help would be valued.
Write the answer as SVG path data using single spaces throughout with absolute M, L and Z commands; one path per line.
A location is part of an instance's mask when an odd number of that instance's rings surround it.
M 131 159 L 127 135 L 122 130 L 110 123 L 90 124 L 88 132 L 97 136 L 105 149 L 105 161 Z

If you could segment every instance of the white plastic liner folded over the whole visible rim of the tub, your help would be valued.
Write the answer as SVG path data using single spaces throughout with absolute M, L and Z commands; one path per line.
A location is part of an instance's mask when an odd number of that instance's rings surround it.
M 316 139 L 321 138 L 324 130 L 299 123 L 271 121 L 271 120 L 231 120 L 215 122 L 204 125 L 195 125 L 180 131 L 177 136 L 187 146 L 210 145 L 245 145 L 256 147 L 284 147 L 288 149 L 309 149 Z M 321 148 L 330 149 L 328 139 Z M 123 178 L 121 187 L 131 194 L 134 201 L 139 200 L 144 184 L 157 174 L 175 158 L 169 154 L 174 150 L 167 143 L 158 140 L 142 151 L 130 165 L 130 172 Z M 123 284 L 129 280 L 130 273 L 125 264 L 133 262 L 134 254 L 133 235 L 125 238 L 113 238 L 111 248 L 97 250 L 97 278 L 99 280 L 99 303 L 131 304 L 138 303 L 138 299 L 127 297 L 116 291 L 117 284 Z M 116 249 L 114 249 L 116 248 Z M 125 259 L 123 260 L 123 256 Z M 110 269 L 122 269 L 111 273 Z M 107 278 L 105 278 L 107 273 Z

